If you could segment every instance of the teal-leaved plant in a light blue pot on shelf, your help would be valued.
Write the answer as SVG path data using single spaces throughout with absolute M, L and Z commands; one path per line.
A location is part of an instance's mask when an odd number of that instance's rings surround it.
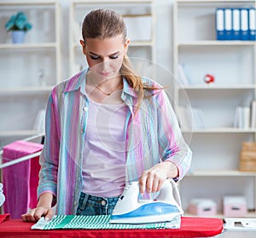
M 27 21 L 27 17 L 23 12 L 12 15 L 5 24 L 7 32 L 12 32 L 14 44 L 24 42 L 25 33 L 32 29 L 32 24 Z

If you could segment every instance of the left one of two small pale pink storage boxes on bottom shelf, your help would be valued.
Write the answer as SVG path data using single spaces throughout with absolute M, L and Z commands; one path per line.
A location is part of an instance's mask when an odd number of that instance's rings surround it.
M 209 199 L 193 199 L 189 203 L 189 213 L 201 216 L 209 217 L 216 215 L 216 203 Z

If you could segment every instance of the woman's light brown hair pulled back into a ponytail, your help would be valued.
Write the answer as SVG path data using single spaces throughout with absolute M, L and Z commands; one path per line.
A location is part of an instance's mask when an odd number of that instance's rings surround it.
M 86 38 L 113 38 L 119 35 L 123 36 L 124 44 L 126 39 L 126 26 L 125 21 L 121 15 L 111 9 L 96 9 L 90 11 L 88 15 L 85 16 L 82 35 L 84 42 Z M 120 69 L 121 75 L 123 75 L 128 84 L 137 92 L 138 101 L 142 101 L 144 96 L 144 90 L 156 90 L 155 86 L 148 86 L 143 84 L 142 78 L 135 73 L 131 61 L 125 54 L 122 67 Z

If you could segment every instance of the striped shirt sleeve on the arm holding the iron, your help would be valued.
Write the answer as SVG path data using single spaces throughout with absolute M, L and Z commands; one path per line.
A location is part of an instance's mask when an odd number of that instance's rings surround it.
M 180 180 L 189 171 L 192 152 L 183 139 L 177 117 L 166 92 L 161 90 L 157 97 L 160 157 L 162 161 L 169 160 L 177 165 Z

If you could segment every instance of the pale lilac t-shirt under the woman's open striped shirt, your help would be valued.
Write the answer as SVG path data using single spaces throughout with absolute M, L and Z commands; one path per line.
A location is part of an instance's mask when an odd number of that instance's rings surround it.
M 113 197 L 125 187 L 125 119 L 127 106 L 90 100 L 85 132 L 83 189 Z

